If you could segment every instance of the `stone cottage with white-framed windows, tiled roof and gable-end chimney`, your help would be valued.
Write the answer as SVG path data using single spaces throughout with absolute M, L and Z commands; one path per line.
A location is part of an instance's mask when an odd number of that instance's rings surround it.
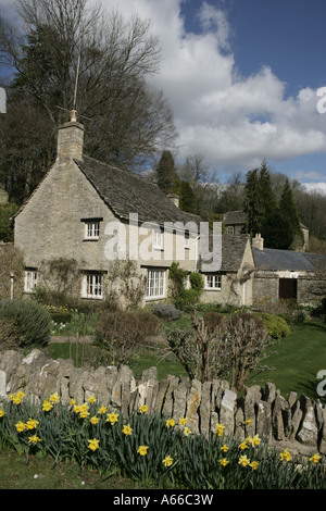
M 204 265 L 200 219 L 183 212 L 177 197 L 166 196 L 156 185 L 87 157 L 83 142 L 84 126 L 73 111 L 71 121 L 58 129 L 53 166 L 14 216 L 26 294 L 43 284 L 47 262 L 64 258 L 80 269 L 76 295 L 101 300 L 112 264 L 135 261 L 139 279 L 147 283 L 145 301 L 162 300 L 168 295 L 168 269 L 177 261 L 188 273 L 203 273 L 203 300 L 251 300 L 248 284 L 244 289 L 226 277 L 231 273 L 239 279 L 244 264 L 252 265 L 247 237 L 223 240 L 222 265 Z

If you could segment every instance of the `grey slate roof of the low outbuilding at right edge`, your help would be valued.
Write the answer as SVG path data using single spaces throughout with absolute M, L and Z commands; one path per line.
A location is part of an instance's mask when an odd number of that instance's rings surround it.
M 258 270 L 292 272 L 326 271 L 326 254 L 294 252 L 292 250 L 277 250 L 264 248 L 260 250 L 252 247 L 252 253 Z

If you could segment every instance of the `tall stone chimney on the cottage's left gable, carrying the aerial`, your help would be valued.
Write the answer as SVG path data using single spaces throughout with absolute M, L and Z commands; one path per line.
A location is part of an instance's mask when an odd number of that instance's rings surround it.
M 68 162 L 83 159 L 84 126 L 77 122 L 76 110 L 71 111 L 71 121 L 58 128 L 57 161 Z

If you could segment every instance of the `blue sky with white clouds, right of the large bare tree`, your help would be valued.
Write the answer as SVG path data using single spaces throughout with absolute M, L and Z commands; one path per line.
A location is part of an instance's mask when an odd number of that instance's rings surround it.
M 163 55 L 152 83 L 174 111 L 177 160 L 200 153 L 223 182 L 265 158 L 326 191 L 325 0 L 100 1 L 152 20 Z

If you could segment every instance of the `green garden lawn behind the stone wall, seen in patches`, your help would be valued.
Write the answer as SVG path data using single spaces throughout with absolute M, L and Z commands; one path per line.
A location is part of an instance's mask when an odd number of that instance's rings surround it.
M 179 327 L 186 327 L 189 319 L 178 320 Z M 326 370 L 326 331 L 313 326 L 291 326 L 291 333 L 285 339 L 272 345 L 268 350 L 268 358 L 262 363 L 273 371 L 255 371 L 247 381 L 247 385 L 264 386 L 266 382 L 274 383 L 284 397 L 292 390 L 305 394 L 312 399 L 319 398 L 326 402 L 325 397 L 319 397 L 316 387 L 319 383 L 317 373 Z M 72 358 L 76 365 L 83 364 L 86 360 L 91 362 L 96 359 L 95 347 L 90 345 L 75 344 L 51 344 L 48 347 L 48 356 L 54 359 Z M 110 363 L 109 359 L 102 358 L 102 363 Z M 140 378 L 142 371 L 156 366 L 159 379 L 173 374 L 176 376 L 187 376 L 184 367 L 173 356 L 163 357 L 155 350 L 139 352 L 133 357 L 128 364 L 136 378 Z

